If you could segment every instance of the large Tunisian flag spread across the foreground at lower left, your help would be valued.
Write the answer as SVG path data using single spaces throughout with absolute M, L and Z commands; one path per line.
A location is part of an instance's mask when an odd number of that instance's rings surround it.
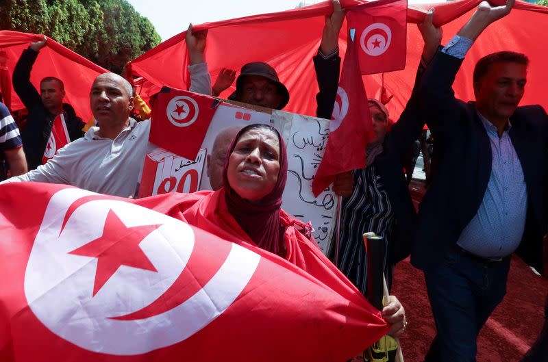
M 388 331 L 357 290 L 142 206 L 177 203 L 1 185 L 0 360 L 343 362 Z

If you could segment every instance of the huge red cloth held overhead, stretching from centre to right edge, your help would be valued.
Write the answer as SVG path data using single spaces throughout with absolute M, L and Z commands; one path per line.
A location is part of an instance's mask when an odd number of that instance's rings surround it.
M 364 1 L 340 0 L 340 3 L 343 8 L 349 9 Z M 423 51 L 424 42 L 415 24 L 424 21 L 425 13 L 429 8 L 435 8 L 434 24 L 443 25 L 442 44 L 447 44 L 469 20 L 478 3 L 477 0 L 441 2 L 432 0 L 432 3 L 409 4 L 406 68 L 386 73 L 384 77 L 386 89 L 394 94 L 394 98 L 387 105 L 394 119 L 399 118 L 410 97 L 416 68 L 419 66 Z M 315 116 L 315 96 L 318 88 L 314 66 L 310 60 L 318 51 L 319 34 L 324 25 L 323 17 L 332 12 L 331 1 L 322 1 L 284 12 L 195 25 L 194 29 L 196 31 L 211 29 L 208 34 L 210 42 L 206 47 L 205 57 L 213 79 L 219 75 L 222 68 L 239 70 L 247 62 L 257 60 L 267 62 L 275 68 L 279 79 L 291 94 L 284 111 Z M 512 49 L 527 54 L 532 60 L 527 68 L 529 75 L 527 92 L 521 104 L 540 104 L 548 109 L 548 96 L 546 96 L 548 72 L 543 62 L 546 57 L 546 47 L 539 46 L 539 44 L 546 44 L 546 39 L 543 31 L 538 31 L 538 29 L 544 29 L 547 22 L 548 7 L 516 1 L 512 12 L 488 27 L 466 54 L 453 84 L 456 96 L 464 101 L 474 99 L 472 73 L 480 57 L 495 51 Z M 188 89 L 190 76 L 186 68 L 188 49 L 185 36 L 186 32 L 177 34 L 132 61 L 134 76 L 142 77 L 138 82 L 138 89 L 143 99 L 147 100 L 162 86 Z M 502 38 L 504 41 L 501 41 Z M 238 39 L 238 42 L 234 42 L 234 39 Z M 249 44 L 269 44 L 269 46 L 250 47 Z M 346 44 L 346 34 L 341 31 L 339 38 L 341 55 L 345 53 Z M 227 57 L 227 54 L 234 56 Z M 296 67 L 295 64 L 298 66 Z M 366 75 L 362 79 L 368 94 L 375 94 L 383 84 L 380 75 Z M 221 93 L 221 98 L 229 96 L 233 91 L 233 87 L 227 88 Z

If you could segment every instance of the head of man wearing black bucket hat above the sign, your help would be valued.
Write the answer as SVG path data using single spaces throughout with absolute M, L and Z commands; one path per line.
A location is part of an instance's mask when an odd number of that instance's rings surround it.
M 264 62 L 242 66 L 236 79 L 236 91 L 228 97 L 232 101 L 283 109 L 289 102 L 289 92 L 282 84 L 276 70 Z

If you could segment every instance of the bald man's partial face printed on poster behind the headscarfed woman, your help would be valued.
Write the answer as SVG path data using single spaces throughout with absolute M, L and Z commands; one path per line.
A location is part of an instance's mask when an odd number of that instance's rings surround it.
M 223 187 L 223 166 L 225 166 L 225 157 L 232 139 L 242 127 L 234 126 L 223 129 L 213 142 L 211 153 L 208 154 L 208 165 L 206 171 L 210 178 L 212 190 L 219 190 Z

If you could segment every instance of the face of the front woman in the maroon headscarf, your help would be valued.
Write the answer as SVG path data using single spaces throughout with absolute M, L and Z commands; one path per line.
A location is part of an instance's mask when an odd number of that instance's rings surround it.
M 279 173 L 279 142 L 268 129 L 243 133 L 228 159 L 228 183 L 241 198 L 260 201 L 274 190 Z

